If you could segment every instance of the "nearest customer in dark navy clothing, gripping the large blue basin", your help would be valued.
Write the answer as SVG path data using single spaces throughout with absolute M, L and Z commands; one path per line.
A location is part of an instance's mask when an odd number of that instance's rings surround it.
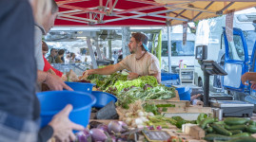
M 49 1 L 36 2 L 30 0 L 34 11 L 45 8 L 45 3 Z M 3 142 L 37 141 L 40 109 L 33 87 L 36 81 L 36 62 L 33 56 L 34 22 L 30 3 L 28 0 L 0 1 L 0 31 L 3 31 L 0 33 L 0 141 Z M 41 14 L 34 12 L 37 19 Z M 13 54 L 13 51 L 19 54 Z M 47 76 L 43 80 L 51 79 L 51 76 Z M 49 127 L 41 131 L 46 132 L 43 136 L 45 139 L 38 140 L 46 141 L 52 132 L 60 141 L 73 140 L 71 130 L 82 130 L 83 127 L 70 122 L 71 109 L 68 105 L 55 115 Z

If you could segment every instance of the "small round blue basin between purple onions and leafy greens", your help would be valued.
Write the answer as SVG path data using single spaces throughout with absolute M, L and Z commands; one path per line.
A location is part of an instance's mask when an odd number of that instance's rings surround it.
M 109 93 L 101 92 L 101 91 L 92 91 L 91 95 L 96 98 L 96 103 L 92 106 L 95 108 L 103 108 L 110 101 L 117 101 L 117 98 Z

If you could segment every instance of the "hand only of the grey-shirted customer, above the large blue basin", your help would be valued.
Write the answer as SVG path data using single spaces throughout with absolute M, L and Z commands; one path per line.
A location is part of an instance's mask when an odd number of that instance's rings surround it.
M 69 91 L 73 91 L 60 77 L 56 75 L 48 74 L 45 83 L 48 84 L 50 90 L 63 90 L 64 88 Z

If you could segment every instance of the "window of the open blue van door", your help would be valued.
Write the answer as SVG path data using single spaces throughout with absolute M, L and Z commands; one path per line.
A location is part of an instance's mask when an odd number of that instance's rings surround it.
M 230 60 L 245 61 L 245 51 L 240 35 L 233 35 L 233 41 L 228 42 L 228 57 Z

